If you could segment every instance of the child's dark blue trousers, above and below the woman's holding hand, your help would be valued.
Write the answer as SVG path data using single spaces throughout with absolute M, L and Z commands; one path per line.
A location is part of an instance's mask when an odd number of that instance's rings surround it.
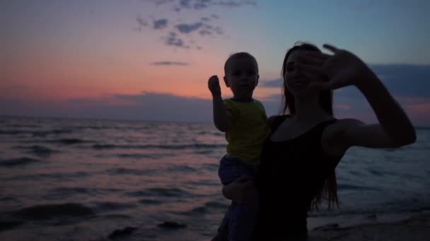
M 233 182 L 242 175 L 253 177 L 252 167 L 246 166 L 240 160 L 231 156 L 224 156 L 219 165 L 219 178 L 223 185 Z M 221 227 L 228 230 L 228 240 L 241 241 L 251 240 L 257 217 L 258 195 L 255 190 L 252 198 L 246 204 L 231 202 L 228 206 L 226 216 L 223 218 Z

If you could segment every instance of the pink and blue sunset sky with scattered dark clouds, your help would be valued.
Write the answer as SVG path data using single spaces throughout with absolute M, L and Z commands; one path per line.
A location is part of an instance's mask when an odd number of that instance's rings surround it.
M 426 0 L 1 0 L 0 116 L 210 123 L 207 80 L 238 51 L 257 58 L 270 116 L 284 54 L 306 41 L 359 56 L 430 126 L 429 12 Z M 354 87 L 334 101 L 337 118 L 376 122 Z

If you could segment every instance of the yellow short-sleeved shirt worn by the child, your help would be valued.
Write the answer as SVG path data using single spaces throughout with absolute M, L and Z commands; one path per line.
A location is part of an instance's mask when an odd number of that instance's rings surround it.
M 255 99 L 223 102 L 232 122 L 226 131 L 227 154 L 252 165 L 259 163 L 262 144 L 270 134 L 265 107 Z

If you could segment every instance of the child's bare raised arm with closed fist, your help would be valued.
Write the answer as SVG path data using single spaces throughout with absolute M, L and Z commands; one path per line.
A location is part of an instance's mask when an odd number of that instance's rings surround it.
M 228 118 L 226 106 L 221 97 L 221 87 L 219 87 L 218 76 L 213 75 L 208 81 L 209 90 L 212 93 L 212 105 L 214 109 L 214 124 L 218 130 L 226 132 L 231 127 L 231 120 Z

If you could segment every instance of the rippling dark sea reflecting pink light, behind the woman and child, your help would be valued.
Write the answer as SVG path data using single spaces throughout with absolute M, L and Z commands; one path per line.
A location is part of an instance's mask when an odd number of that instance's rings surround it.
M 225 151 L 210 123 L 0 117 L 0 240 L 210 240 Z M 337 177 L 339 208 L 310 229 L 429 211 L 430 129 L 349 149 Z

